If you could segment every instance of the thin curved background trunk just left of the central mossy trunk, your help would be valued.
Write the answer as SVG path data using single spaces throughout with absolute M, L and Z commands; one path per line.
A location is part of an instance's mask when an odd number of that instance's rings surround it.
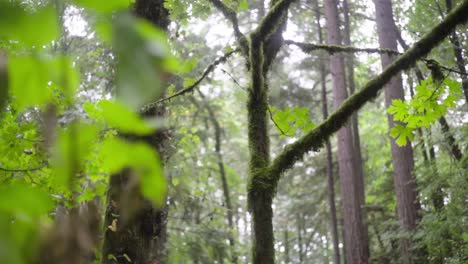
M 218 119 L 216 119 L 216 115 L 209 105 L 209 103 L 206 101 L 205 96 L 203 93 L 198 90 L 198 93 L 203 99 L 203 102 L 205 104 L 205 108 L 208 111 L 210 122 L 213 125 L 215 129 L 215 152 L 217 156 L 217 163 L 218 163 L 218 169 L 219 169 L 219 175 L 221 177 L 221 185 L 223 188 L 223 195 L 224 195 L 224 203 L 226 204 L 226 218 L 228 221 L 228 226 L 229 226 L 229 232 L 228 232 L 228 240 L 229 240 L 229 245 L 231 246 L 231 262 L 232 263 L 237 263 L 237 253 L 236 253 L 236 247 L 235 247 L 235 239 L 232 230 L 235 229 L 234 226 L 234 216 L 233 216 L 233 207 L 231 203 L 231 194 L 229 192 L 229 184 L 227 181 L 227 176 L 226 176 L 226 169 L 224 168 L 224 160 L 223 160 L 223 155 L 221 154 L 221 126 L 218 122 Z

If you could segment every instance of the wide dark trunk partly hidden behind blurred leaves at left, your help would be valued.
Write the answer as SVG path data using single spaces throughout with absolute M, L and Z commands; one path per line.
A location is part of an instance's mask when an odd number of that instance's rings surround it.
M 137 0 L 134 12 L 156 27 L 167 30 L 169 12 L 164 8 L 164 0 Z M 163 114 L 164 108 L 161 106 L 144 113 L 145 116 L 159 117 Z M 160 130 L 151 137 L 139 140 L 152 145 L 164 160 L 167 132 Z M 102 263 L 165 263 L 167 206 L 155 208 L 144 199 L 138 183 L 128 170 L 111 176 L 107 200 Z

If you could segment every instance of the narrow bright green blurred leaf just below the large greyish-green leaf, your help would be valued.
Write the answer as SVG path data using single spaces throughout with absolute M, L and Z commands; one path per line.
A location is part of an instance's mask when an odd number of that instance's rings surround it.
M 102 110 L 102 116 L 107 124 L 125 133 L 148 135 L 154 132 L 137 113 L 129 110 L 123 104 L 114 101 L 103 100 L 98 107 Z

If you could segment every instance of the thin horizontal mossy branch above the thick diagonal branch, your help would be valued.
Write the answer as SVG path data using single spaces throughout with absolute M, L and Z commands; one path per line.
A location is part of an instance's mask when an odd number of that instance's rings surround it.
M 287 45 L 295 45 L 299 47 L 305 53 L 311 53 L 312 51 L 315 51 L 315 50 L 324 50 L 330 54 L 334 54 L 338 52 L 347 52 L 347 53 L 365 52 L 365 53 L 401 55 L 400 52 L 396 50 L 392 50 L 392 49 L 356 48 L 356 47 L 341 46 L 341 45 L 302 43 L 302 42 L 296 42 L 293 40 L 285 40 L 284 43 Z

